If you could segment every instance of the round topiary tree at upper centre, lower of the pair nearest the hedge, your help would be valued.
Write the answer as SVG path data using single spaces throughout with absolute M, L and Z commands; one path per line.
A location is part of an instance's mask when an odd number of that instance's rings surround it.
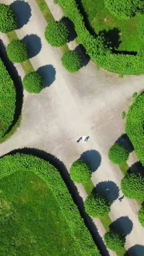
M 66 51 L 62 56 L 62 65 L 71 73 L 77 72 L 81 68 L 81 57 L 76 51 Z

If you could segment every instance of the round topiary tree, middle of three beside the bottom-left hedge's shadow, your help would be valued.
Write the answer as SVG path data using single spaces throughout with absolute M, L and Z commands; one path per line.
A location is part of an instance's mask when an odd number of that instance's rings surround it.
M 98 193 L 91 193 L 85 203 L 85 211 L 93 218 L 102 218 L 110 212 L 111 203 L 106 200 L 105 196 Z

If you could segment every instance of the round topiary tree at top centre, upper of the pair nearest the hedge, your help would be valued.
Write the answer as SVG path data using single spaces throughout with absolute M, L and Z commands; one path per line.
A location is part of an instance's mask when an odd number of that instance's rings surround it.
M 45 28 L 45 38 L 52 46 L 68 43 L 68 28 L 60 21 L 52 21 Z

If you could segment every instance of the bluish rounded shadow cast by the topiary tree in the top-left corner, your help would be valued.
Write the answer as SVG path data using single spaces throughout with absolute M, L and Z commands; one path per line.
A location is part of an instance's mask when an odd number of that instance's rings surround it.
M 31 18 L 30 5 L 25 1 L 17 0 L 11 3 L 10 7 L 17 15 L 17 29 L 22 28 Z

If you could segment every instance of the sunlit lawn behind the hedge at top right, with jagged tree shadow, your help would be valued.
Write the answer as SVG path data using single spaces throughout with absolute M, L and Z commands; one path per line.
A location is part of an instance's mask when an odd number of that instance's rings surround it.
M 115 28 L 115 31 L 109 32 L 109 38 L 114 39 L 116 45 L 118 40 L 122 41 L 118 46 L 118 50 L 139 50 L 143 42 L 138 37 L 137 24 L 142 19 L 142 16 L 119 20 L 105 8 L 103 0 L 81 0 L 81 2 L 88 15 L 89 23 L 97 34 L 99 31 L 109 31 Z M 115 49 L 117 49 L 117 46 L 115 46 Z

